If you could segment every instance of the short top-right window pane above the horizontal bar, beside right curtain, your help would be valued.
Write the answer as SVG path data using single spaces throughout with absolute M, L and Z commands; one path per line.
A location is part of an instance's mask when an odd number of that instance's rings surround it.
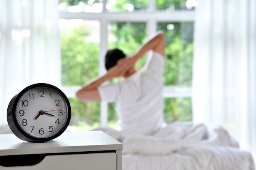
M 197 0 L 155 0 L 158 10 L 193 10 L 197 6 Z

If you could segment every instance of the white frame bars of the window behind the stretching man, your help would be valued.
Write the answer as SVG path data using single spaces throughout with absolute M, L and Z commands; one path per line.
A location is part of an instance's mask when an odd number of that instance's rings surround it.
M 179 11 L 156 11 L 155 0 L 150 0 L 149 10 L 146 12 L 115 12 L 110 13 L 106 10 L 106 0 L 103 0 L 103 11 L 101 13 L 70 13 L 60 12 L 60 19 L 83 19 L 100 21 L 100 57 L 99 57 L 99 75 L 106 73 L 104 67 L 104 57 L 108 50 L 108 22 L 126 21 L 126 22 L 146 22 L 147 36 L 149 37 L 157 31 L 157 22 L 194 22 L 195 12 L 189 10 Z M 62 89 L 69 98 L 74 98 L 76 91 L 81 86 L 63 86 Z M 165 86 L 164 97 L 191 97 L 191 86 Z M 108 103 L 101 102 L 101 126 L 108 124 Z

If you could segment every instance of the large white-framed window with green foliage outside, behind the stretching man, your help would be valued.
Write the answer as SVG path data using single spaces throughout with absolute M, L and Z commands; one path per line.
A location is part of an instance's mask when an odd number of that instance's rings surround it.
M 158 30 L 166 35 L 165 122 L 192 120 L 196 4 L 196 0 L 60 0 L 61 82 L 72 106 L 70 126 L 118 127 L 115 104 L 79 102 L 75 93 L 88 80 L 106 73 L 103 62 L 108 49 L 118 47 L 130 55 Z M 145 61 L 146 55 L 137 67 Z

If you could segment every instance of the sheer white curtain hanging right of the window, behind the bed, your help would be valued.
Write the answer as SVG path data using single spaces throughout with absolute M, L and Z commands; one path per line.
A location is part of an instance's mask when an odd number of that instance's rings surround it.
M 224 126 L 256 156 L 256 0 L 198 0 L 193 121 Z

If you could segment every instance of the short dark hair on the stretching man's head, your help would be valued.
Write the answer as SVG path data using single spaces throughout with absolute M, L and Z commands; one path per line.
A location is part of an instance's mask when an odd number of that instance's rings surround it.
M 111 67 L 115 66 L 119 59 L 126 57 L 123 51 L 119 49 L 108 50 L 105 56 L 105 67 L 109 70 Z

